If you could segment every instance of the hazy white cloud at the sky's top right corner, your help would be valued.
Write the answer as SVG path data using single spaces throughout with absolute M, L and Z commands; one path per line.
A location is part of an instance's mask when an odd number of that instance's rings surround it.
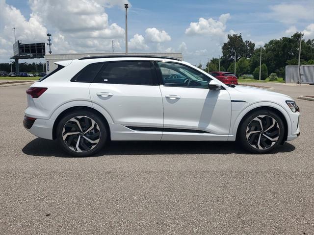
M 284 24 L 295 24 L 304 20 L 313 20 L 313 5 L 277 4 L 269 7 L 267 16 Z

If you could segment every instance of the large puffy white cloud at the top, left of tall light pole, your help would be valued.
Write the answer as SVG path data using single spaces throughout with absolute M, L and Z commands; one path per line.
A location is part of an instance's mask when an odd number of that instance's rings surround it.
M 32 12 L 63 34 L 91 34 L 101 38 L 124 36 L 123 28 L 108 24 L 102 1 L 62 0 L 55 4 L 54 1 L 30 0 L 29 3 Z

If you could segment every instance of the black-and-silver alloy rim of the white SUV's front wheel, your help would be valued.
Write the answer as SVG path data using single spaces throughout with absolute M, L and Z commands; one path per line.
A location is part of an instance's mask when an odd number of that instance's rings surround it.
M 279 139 L 280 127 L 275 118 L 260 115 L 253 118 L 246 128 L 246 140 L 256 149 L 268 149 Z

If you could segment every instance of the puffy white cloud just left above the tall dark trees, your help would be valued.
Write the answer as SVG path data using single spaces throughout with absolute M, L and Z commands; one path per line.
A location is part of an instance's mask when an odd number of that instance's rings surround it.
M 190 23 L 190 26 L 185 29 L 185 34 L 225 37 L 228 19 L 230 19 L 229 13 L 220 15 L 218 20 L 200 18 L 198 22 Z

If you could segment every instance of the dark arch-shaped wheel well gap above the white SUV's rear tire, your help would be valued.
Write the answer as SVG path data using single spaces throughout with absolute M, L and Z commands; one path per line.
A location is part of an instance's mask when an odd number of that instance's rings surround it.
M 108 137 L 111 139 L 111 134 L 110 134 L 110 127 L 109 127 L 109 123 L 108 123 L 108 120 L 105 118 L 105 116 L 98 110 L 94 109 L 94 108 L 91 108 L 91 107 L 88 107 L 88 106 L 74 106 L 74 107 L 70 107 L 70 108 L 67 108 L 65 110 L 63 110 L 58 116 L 57 118 L 54 120 L 54 123 L 53 123 L 53 127 L 52 127 L 52 139 L 55 140 L 56 139 L 56 129 L 57 129 L 57 126 L 58 126 L 58 123 L 59 121 L 64 117 L 66 116 L 67 114 L 71 113 L 71 112 L 74 112 L 74 111 L 90 111 L 94 114 L 97 114 L 99 117 L 101 117 L 104 121 L 104 124 L 108 130 Z

